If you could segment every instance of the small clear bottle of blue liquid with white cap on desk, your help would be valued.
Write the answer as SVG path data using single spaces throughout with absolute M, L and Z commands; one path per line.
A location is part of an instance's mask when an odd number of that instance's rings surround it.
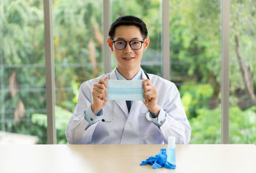
M 176 158 L 176 146 L 175 146 L 175 137 L 168 137 L 167 145 L 167 162 L 175 165 Z

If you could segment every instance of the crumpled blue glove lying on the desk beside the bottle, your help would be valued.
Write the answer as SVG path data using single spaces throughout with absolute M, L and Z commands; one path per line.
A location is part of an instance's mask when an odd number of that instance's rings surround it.
M 166 149 L 160 149 L 156 156 L 151 156 L 145 161 L 142 161 L 140 165 L 150 164 L 154 169 L 159 169 L 161 167 L 166 167 L 167 169 L 175 169 L 176 165 L 167 162 Z

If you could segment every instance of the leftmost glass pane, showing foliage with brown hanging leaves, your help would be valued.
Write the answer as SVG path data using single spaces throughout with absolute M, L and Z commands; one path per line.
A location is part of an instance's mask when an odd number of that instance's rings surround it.
M 46 144 L 43 1 L 0 8 L 0 143 Z

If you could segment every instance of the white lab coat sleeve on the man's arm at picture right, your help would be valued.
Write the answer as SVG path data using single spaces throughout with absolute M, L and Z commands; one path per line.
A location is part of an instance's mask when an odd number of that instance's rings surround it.
M 189 144 L 191 127 L 175 84 L 172 84 L 172 86 L 167 89 L 163 107 L 160 111 L 164 111 L 166 114 L 165 121 L 160 126 L 164 143 L 167 144 L 169 136 L 174 136 L 176 144 Z

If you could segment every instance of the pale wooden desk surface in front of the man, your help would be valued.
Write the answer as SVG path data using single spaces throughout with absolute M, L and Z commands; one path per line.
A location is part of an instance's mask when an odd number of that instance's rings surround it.
M 177 145 L 177 169 L 140 166 L 166 145 L 0 145 L 0 172 L 256 172 L 255 145 Z

